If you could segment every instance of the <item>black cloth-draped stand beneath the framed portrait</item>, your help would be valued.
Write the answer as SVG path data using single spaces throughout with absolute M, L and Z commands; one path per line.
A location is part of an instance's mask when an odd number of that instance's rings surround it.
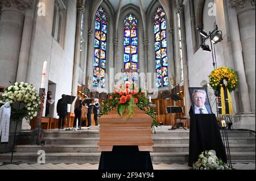
M 227 162 L 216 116 L 214 114 L 190 114 L 188 165 L 192 166 L 205 150 L 215 150 L 216 156 L 225 163 Z

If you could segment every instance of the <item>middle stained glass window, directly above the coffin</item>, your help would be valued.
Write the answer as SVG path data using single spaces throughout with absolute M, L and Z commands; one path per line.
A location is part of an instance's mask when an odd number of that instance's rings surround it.
M 138 85 L 138 20 L 133 14 L 126 16 L 124 20 L 124 50 L 123 63 L 126 71 L 124 81 L 133 81 Z

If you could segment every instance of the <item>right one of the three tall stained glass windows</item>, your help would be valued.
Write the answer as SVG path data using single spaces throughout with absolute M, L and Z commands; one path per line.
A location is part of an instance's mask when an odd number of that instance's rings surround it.
M 160 6 L 154 16 L 156 87 L 169 86 L 166 12 Z

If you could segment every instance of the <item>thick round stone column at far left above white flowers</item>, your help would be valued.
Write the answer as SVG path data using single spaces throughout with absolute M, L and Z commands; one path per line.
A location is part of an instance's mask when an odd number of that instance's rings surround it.
M 0 6 L 0 85 L 9 86 L 16 81 L 24 14 L 32 0 L 0 0 Z

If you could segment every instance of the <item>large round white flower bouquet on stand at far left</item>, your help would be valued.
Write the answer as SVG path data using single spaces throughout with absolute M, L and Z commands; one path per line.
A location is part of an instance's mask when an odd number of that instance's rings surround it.
M 16 82 L 5 89 L 5 93 L 0 98 L 0 104 L 4 104 L 5 102 L 10 102 L 10 104 L 24 104 L 24 108 L 21 110 L 11 109 L 11 117 L 14 120 L 18 119 L 18 121 L 23 118 L 28 121 L 33 119 L 33 117 L 37 116 L 41 104 L 39 94 L 35 87 L 24 82 Z

